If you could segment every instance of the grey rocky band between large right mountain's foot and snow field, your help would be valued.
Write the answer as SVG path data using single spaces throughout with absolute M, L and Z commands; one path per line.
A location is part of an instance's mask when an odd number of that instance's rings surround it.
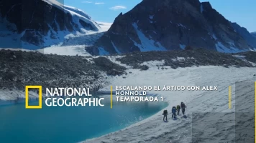
M 256 52 L 244 52 L 244 56 L 256 56 Z M 248 58 L 249 59 L 249 58 Z M 147 69 L 143 66 L 145 61 L 164 61 L 163 66 L 170 66 L 173 69 L 178 67 L 189 66 L 235 66 L 235 67 L 252 67 L 253 65 L 242 59 L 238 59 L 232 54 L 219 53 L 218 51 L 209 51 L 206 49 L 191 49 L 184 51 L 147 51 L 147 52 L 134 52 L 126 56 L 116 59 L 121 61 L 122 64 L 133 66 L 135 69 Z M 248 60 L 256 63 L 254 60 Z M 163 68 L 160 67 L 159 68 Z

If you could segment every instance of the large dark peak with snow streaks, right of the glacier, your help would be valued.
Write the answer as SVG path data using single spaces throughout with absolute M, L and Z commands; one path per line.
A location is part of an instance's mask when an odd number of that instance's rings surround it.
M 126 14 L 119 14 L 109 31 L 87 50 L 97 55 L 186 46 L 229 53 L 252 49 L 209 2 L 143 0 Z

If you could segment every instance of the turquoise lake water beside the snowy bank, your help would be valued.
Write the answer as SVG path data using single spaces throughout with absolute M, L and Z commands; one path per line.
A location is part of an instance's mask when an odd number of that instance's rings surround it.
M 44 103 L 44 100 L 43 100 Z M 75 143 L 115 132 L 159 112 L 164 102 L 104 102 L 104 107 L 0 106 L 0 142 Z

